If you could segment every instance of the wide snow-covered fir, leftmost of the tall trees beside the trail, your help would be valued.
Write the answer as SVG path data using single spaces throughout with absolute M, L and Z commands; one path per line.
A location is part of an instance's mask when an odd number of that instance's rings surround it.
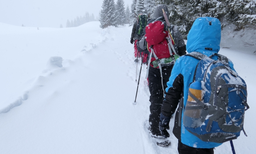
M 100 14 L 101 28 L 106 28 L 109 26 L 116 26 L 115 17 L 115 2 L 114 0 L 103 0 L 102 10 Z

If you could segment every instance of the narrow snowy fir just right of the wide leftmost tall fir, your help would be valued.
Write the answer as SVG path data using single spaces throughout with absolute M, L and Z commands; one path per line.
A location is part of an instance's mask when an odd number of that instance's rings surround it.
M 116 18 L 117 18 L 117 25 L 124 25 L 126 24 L 126 14 L 125 14 L 125 7 L 123 0 L 117 0 L 116 4 Z

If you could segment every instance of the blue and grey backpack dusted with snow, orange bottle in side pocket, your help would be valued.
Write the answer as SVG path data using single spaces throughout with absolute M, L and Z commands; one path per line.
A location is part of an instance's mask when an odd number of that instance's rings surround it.
M 202 141 L 224 143 L 244 131 L 244 113 L 249 106 L 245 81 L 229 67 L 227 57 L 214 55 L 218 60 L 199 52 L 187 54 L 200 60 L 193 82 L 202 79 L 202 95 L 198 99 L 188 91 L 193 101 L 184 107 L 183 124 Z

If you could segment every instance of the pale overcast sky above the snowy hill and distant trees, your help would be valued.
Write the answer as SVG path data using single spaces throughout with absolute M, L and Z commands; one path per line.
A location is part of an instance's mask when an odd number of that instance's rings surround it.
M 117 0 L 115 0 L 116 2 Z M 0 22 L 26 27 L 66 27 L 85 12 L 99 15 L 103 0 L 0 0 Z M 124 0 L 125 7 L 132 0 Z

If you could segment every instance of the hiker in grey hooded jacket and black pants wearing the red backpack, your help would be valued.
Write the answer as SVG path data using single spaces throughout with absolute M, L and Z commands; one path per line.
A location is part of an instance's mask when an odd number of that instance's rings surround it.
M 155 8 L 154 14 L 152 17 L 152 20 L 163 17 L 163 11 L 167 14 L 167 17 L 169 18 L 169 11 L 167 6 L 165 5 L 159 5 Z M 146 26 L 147 28 L 147 26 Z M 169 27 L 170 33 L 172 35 L 172 38 L 175 42 L 174 48 L 175 52 L 178 53 L 180 56 L 186 54 L 186 45 L 184 43 L 183 37 L 180 34 L 178 28 L 176 26 L 171 25 Z M 142 39 L 137 43 L 139 51 L 146 50 L 147 47 L 145 46 L 146 44 L 146 39 L 145 36 L 142 37 Z M 167 47 L 167 46 L 166 46 Z M 169 57 L 171 56 L 168 50 L 168 55 Z M 159 54 L 159 53 L 158 53 Z M 166 55 L 166 53 L 163 53 Z M 161 55 L 160 55 L 161 56 Z M 153 56 L 152 56 L 153 58 Z M 162 66 L 162 64 L 161 64 Z M 171 70 L 173 67 L 173 62 L 168 63 L 168 64 L 163 64 L 162 68 L 162 76 L 163 76 L 163 85 L 162 85 L 162 78 L 161 78 L 161 73 L 159 68 L 152 67 L 152 61 L 148 65 L 149 71 L 148 71 L 148 81 L 149 81 L 149 91 L 150 91 L 150 99 L 149 101 L 151 102 L 150 105 L 150 112 L 151 114 L 149 115 L 149 124 L 151 125 L 150 127 L 150 133 L 154 137 L 159 137 L 161 138 L 161 132 L 159 131 L 159 117 L 161 113 L 161 106 L 163 104 L 163 87 L 164 89 L 167 87 L 167 81 L 169 80 L 169 77 L 171 75 Z

